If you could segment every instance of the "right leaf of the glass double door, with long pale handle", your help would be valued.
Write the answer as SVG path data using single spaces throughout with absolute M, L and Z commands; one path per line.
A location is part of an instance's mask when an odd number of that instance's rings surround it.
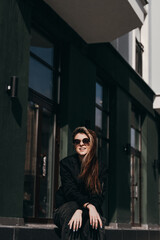
M 55 115 L 45 108 L 40 109 L 39 112 L 35 215 L 51 218 L 54 191 Z

